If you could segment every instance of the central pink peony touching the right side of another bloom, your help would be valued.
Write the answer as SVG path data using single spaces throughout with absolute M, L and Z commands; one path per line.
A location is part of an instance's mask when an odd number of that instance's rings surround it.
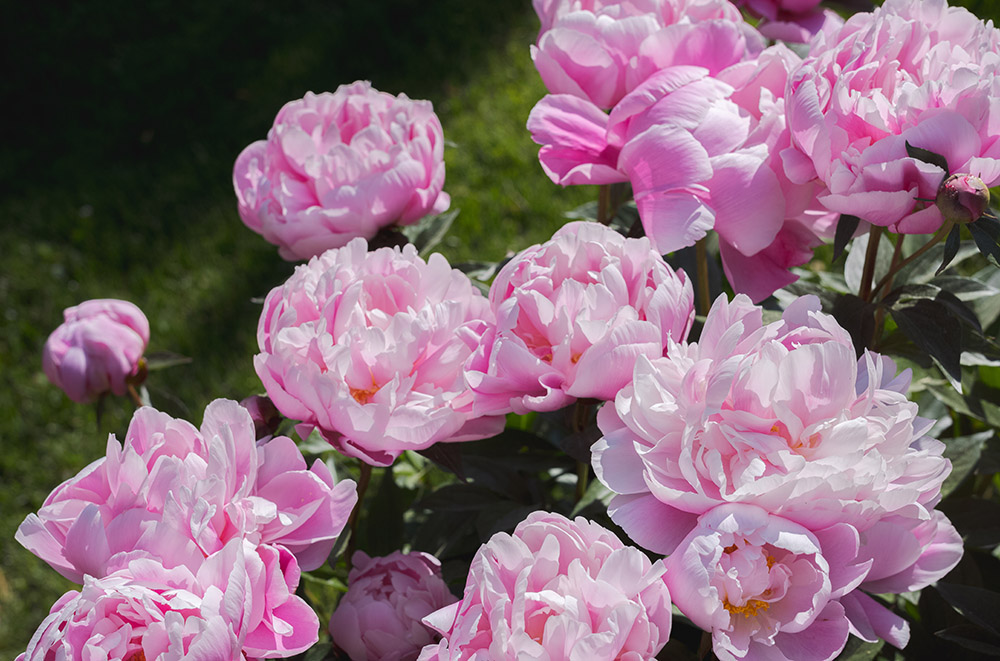
M 638 356 L 683 342 L 694 293 L 648 239 L 598 223 L 563 226 L 522 251 L 490 288 L 495 328 L 466 363 L 476 410 L 551 411 L 578 398 L 613 399 Z

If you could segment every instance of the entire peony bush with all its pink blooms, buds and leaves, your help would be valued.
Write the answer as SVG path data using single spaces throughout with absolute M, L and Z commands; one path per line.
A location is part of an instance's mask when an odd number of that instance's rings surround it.
M 261 388 L 197 428 L 140 406 L 27 516 L 81 587 L 19 661 L 1000 649 L 1000 33 L 943 0 L 534 8 L 526 137 L 596 200 L 453 266 L 429 102 L 287 104 L 233 173 L 307 260 Z M 87 301 L 44 371 L 148 404 L 148 340 Z

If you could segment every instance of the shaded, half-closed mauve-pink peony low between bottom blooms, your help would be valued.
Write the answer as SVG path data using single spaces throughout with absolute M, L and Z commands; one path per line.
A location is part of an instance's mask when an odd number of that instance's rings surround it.
M 421 620 L 457 601 L 428 553 L 371 558 L 357 551 L 330 635 L 352 661 L 413 661 L 438 637 Z

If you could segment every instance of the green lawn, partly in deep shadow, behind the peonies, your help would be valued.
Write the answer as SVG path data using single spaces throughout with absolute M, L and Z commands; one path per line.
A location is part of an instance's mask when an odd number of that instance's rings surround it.
M 544 94 L 527 0 L 7 4 L 0 658 L 23 651 L 72 587 L 14 530 L 132 411 L 111 401 L 98 426 L 48 383 L 41 350 L 62 310 L 99 297 L 139 305 L 150 351 L 193 359 L 151 375 L 153 403 L 195 424 L 212 399 L 260 390 L 252 299 L 293 265 L 240 222 L 231 171 L 282 104 L 359 79 L 433 101 L 454 143 L 446 190 L 461 215 L 441 248 L 453 262 L 543 241 L 594 196 L 549 182 L 524 129 Z

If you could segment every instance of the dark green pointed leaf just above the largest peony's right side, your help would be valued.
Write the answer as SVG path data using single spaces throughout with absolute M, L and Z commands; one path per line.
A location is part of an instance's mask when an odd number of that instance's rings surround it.
M 937 299 L 919 298 L 896 301 L 889 310 L 899 330 L 933 358 L 954 383 L 961 384 L 962 325 L 948 306 Z

